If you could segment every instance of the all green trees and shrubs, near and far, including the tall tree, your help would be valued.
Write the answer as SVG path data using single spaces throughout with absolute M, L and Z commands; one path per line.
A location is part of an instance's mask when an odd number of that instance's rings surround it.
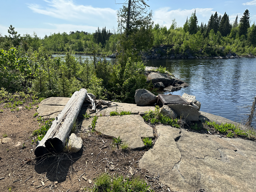
M 69 97 L 86 88 L 100 99 L 134 102 L 136 89 L 151 89 L 146 84 L 143 55 L 165 46 L 165 54 L 196 57 L 256 55 L 256 26 L 250 25 L 249 11 L 231 24 L 229 16 L 217 12 L 208 23 L 198 25 L 196 10 L 183 27 L 175 19 L 169 29 L 154 24 L 152 12 L 143 0 L 129 0 L 117 12 L 118 30 L 103 27 L 94 33 L 83 31 L 53 33 L 44 38 L 21 36 L 10 25 L 9 35 L 0 34 L 0 86 L 9 92 L 25 91 L 40 97 Z M 128 11 L 130 9 L 130 12 Z M 129 14 L 128 14 L 129 13 Z M 129 18 L 129 19 L 128 19 Z M 159 49 L 160 50 L 160 49 Z M 52 57 L 65 53 L 65 60 Z M 91 59 L 76 59 L 75 53 L 91 54 Z M 117 53 L 115 64 L 96 56 Z M 158 52 L 163 55 L 161 50 Z M 78 81 L 77 77 L 84 81 Z M 151 89 L 152 90 L 152 89 Z

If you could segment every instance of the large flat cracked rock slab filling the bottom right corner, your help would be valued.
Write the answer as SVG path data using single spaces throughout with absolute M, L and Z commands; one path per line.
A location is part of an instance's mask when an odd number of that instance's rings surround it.
M 256 191 L 256 142 L 158 125 L 158 139 L 139 161 L 174 191 Z

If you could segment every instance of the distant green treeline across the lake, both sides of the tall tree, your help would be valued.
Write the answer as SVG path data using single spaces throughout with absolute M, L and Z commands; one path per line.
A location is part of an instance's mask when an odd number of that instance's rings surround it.
M 256 26 L 255 23 L 250 25 L 249 15 L 249 11 L 245 10 L 240 21 L 237 16 L 231 24 L 226 13 L 221 16 L 216 12 L 210 16 L 207 24 L 202 22 L 198 25 L 195 10 L 183 27 L 177 27 L 175 19 L 169 29 L 159 24 L 152 26 L 153 47 L 168 46 L 167 54 L 186 54 L 189 50 L 194 56 L 225 55 L 229 52 L 240 56 L 256 55 Z M 5 50 L 21 45 L 25 51 L 38 51 L 42 44 L 51 53 L 75 51 L 87 54 L 115 53 L 120 36 L 119 33 L 113 34 L 106 30 L 106 27 L 101 30 L 98 28 L 94 33 L 53 33 L 42 39 L 35 32 L 32 35 L 17 35 L 13 26 L 9 27 L 8 33 L 9 36 L 0 34 L 0 48 Z

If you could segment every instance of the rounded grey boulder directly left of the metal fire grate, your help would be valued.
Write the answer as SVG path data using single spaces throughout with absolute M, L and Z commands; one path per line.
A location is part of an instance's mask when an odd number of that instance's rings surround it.
M 156 102 L 156 96 L 146 89 L 137 89 L 134 99 L 135 103 L 141 106 L 150 105 Z

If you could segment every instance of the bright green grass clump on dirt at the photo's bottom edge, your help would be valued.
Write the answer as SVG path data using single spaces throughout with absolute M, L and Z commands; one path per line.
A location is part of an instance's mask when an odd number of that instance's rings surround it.
M 123 176 L 116 176 L 111 178 L 104 173 L 99 176 L 92 189 L 92 192 L 118 192 L 118 191 L 149 191 L 145 181 L 135 177 L 133 179 L 123 178 Z

